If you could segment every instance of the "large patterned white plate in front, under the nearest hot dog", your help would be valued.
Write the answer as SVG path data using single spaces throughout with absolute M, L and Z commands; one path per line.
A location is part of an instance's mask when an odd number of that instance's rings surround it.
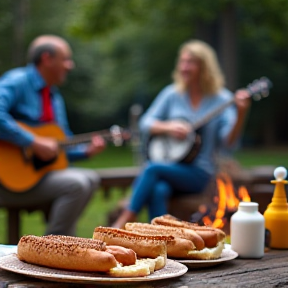
M 3 256 L 0 261 L 0 268 L 43 280 L 84 284 L 117 284 L 154 281 L 178 277 L 185 274 L 188 270 L 185 265 L 177 261 L 167 259 L 166 266 L 163 269 L 158 270 L 149 276 L 113 278 L 105 275 L 104 273 L 74 272 L 32 265 L 20 261 L 16 254 Z

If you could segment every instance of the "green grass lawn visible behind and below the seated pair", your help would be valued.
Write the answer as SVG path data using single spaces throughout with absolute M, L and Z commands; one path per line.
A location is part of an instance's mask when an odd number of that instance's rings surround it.
M 288 149 L 253 149 L 243 150 L 235 154 L 235 159 L 242 167 L 252 167 L 258 165 L 273 165 L 288 167 Z M 133 155 L 129 146 L 124 147 L 107 147 L 101 155 L 77 163 L 77 166 L 88 167 L 92 169 L 107 167 L 125 167 L 133 166 Z M 129 194 L 130 191 L 127 191 Z M 127 195 L 128 195 L 127 194 Z M 111 197 L 105 199 L 101 190 L 97 191 L 81 216 L 78 226 L 77 235 L 81 237 L 91 237 L 93 230 L 98 225 L 106 225 L 107 214 L 113 210 L 120 199 L 123 198 L 122 191 L 113 189 Z M 40 212 L 22 215 L 22 234 L 42 235 L 45 229 Z M 147 219 L 146 211 L 140 215 L 140 219 Z M 0 209 L 0 243 L 6 243 L 7 235 L 6 212 Z

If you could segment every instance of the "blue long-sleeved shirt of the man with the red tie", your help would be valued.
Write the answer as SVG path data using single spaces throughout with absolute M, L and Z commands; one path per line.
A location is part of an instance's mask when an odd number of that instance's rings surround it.
M 32 64 L 15 68 L 0 77 L 0 139 L 20 147 L 29 146 L 34 135 L 17 125 L 16 121 L 30 126 L 43 124 L 41 89 L 46 83 Z M 51 87 L 54 121 L 67 136 L 71 136 L 65 103 L 56 87 Z M 69 160 L 86 158 L 86 147 L 79 145 L 67 151 Z

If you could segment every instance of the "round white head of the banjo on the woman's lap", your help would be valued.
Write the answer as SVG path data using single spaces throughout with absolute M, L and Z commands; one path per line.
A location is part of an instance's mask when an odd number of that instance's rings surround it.
M 195 138 L 195 133 L 182 140 L 167 135 L 153 136 L 148 142 L 148 159 L 160 163 L 182 162 L 190 153 Z

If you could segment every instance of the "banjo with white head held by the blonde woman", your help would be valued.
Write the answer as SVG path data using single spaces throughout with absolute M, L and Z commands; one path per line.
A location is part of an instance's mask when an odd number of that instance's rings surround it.
M 269 95 L 271 87 L 272 82 L 268 78 L 262 77 L 249 84 L 246 90 L 249 96 L 259 101 Z M 193 131 L 185 139 L 177 139 L 170 135 L 152 135 L 147 143 L 147 158 L 150 161 L 162 163 L 192 162 L 201 147 L 201 137 L 195 131 L 233 103 L 235 103 L 235 99 L 231 98 L 216 109 L 209 111 L 203 118 L 193 123 Z

